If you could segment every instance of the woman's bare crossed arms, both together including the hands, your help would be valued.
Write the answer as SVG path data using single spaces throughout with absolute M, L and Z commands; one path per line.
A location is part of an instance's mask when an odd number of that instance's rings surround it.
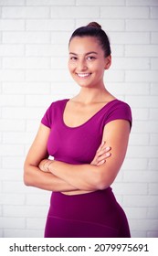
M 90 165 L 70 165 L 47 160 L 47 139 L 50 133 L 41 124 L 37 136 L 26 155 L 24 182 L 26 186 L 51 191 L 95 191 L 111 186 L 127 151 L 130 123 L 115 120 L 104 128 L 102 142 Z M 111 145 L 111 155 L 107 155 Z M 110 157 L 109 157 L 110 156 Z

